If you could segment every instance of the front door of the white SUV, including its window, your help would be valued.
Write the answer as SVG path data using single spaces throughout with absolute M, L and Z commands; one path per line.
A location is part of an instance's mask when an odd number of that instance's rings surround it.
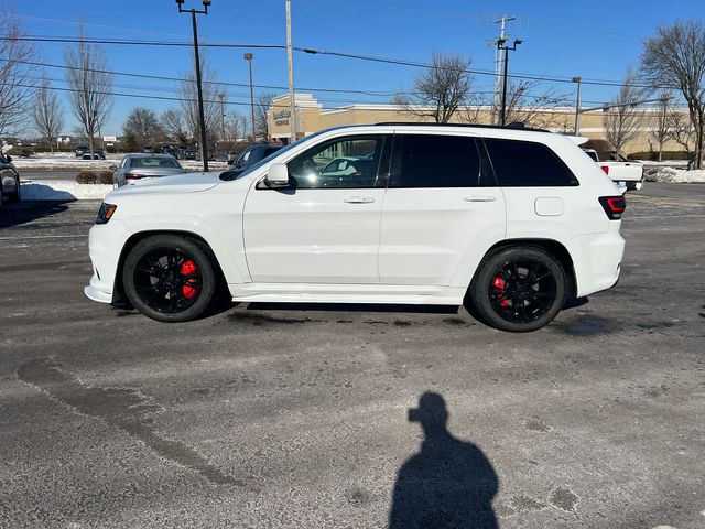
M 291 188 L 252 187 L 245 205 L 245 246 L 254 282 L 378 283 L 384 197 L 378 174 L 391 142 L 345 138 L 291 161 Z M 341 171 L 345 161 L 346 170 Z M 347 165 L 355 170 L 347 170 Z

